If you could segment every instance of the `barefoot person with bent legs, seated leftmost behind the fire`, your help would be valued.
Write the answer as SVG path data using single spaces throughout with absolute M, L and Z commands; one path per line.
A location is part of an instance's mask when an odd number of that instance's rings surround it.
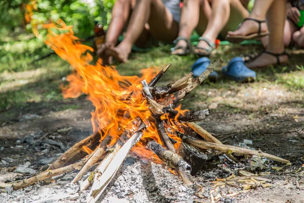
M 97 54 L 105 64 L 112 57 L 126 62 L 135 43 L 144 44 L 150 37 L 172 43 L 177 37 L 179 18 L 179 0 L 117 0 L 105 43 L 97 47 Z M 124 40 L 116 46 L 127 23 Z

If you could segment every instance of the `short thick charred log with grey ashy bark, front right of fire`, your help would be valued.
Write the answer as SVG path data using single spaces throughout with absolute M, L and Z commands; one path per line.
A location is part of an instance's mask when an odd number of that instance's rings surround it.
M 162 145 L 158 144 L 155 141 L 148 143 L 148 148 L 153 151 L 162 161 L 164 161 L 169 167 L 183 170 L 185 172 L 191 171 L 191 166 L 185 162 L 180 156 L 176 153 L 171 152 L 168 149 L 165 149 Z

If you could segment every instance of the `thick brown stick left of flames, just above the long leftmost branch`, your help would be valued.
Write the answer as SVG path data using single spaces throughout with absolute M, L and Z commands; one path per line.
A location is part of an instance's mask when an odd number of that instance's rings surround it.
M 52 163 L 46 171 L 54 170 L 55 168 L 62 167 L 75 155 L 79 154 L 83 150 L 83 146 L 90 147 L 94 144 L 97 144 L 100 140 L 101 134 L 100 131 L 96 131 L 91 136 L 80 141 L 79 143 L 74 144 L 66 152 L 64 152 L 54 163 Z

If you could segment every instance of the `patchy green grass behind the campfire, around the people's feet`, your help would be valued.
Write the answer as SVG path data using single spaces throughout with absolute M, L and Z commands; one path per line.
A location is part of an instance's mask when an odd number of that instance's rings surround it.
M 71 72 L 69 64 L 53 55 L 46 59 L 32 62 L 34 59 L 51 52 L 40 40 L 27 38 L 26 36 L 9 39 L 6 42 L 0 42 L 0 112 L 7 111 L 14 107 L 26 107 L 35 103 L 49 103 L 51 101 L 60 101 L 64 103 L 61 96 L 59 85 L 63 83 L 62 78 Z M 221 58 L 226 65 L 230 59 L 239 56 L 240 54 L 260 52 L 260 45 L 223 45 L 220 46 L 211 60 Z M 168 72 L 162 77 L 158 85 L 165 85 L 176 79 L 183 77 L 191 71 L 191 65 L 197 58 L 193 55 L 176 56 L 170 55 L 170 46 L 163 45 L 155 47 L 146 53 L 132 53 L 130 60 L 125 64 L 117 64 L 117 69 L 121 75 L 138 75 L 141 69 L 150 66 L 164 67 L 169 63 L 172 66 Z M 238 91 L 246 88 L 260 88 L 261 86 L 278 86 L 289 89 L 290 91 L 300 91 L 304 88 L 304 62 L 301 54 L 292 54 L 291 62 L 286 66 L 272 66 L 268 69 L 257 71 L 257 81 L 252 84 L 240 84 L 230 79 L 223 77 L 220 73 L 221 67 L 217 67 L 220 75 L 217 83 L 207 81 L 204 85 L 197 88 L 189 95 L 182 103 L 184 104 L 210 104 L 215 98 L 208 95 L 210 89 L 217 91 L 229 91 L 237 89 Z M 30 74 L 30 70 L 47 69 L 47 72 L 37 78 L 32 78 L 30 83 L 24 85 L 12 86 L 12 88 L 2 88 L 6 85 L 19 82 L 20 79 L 4 80 L 3 74 L 20 72 Z M 2 74 L 1 74 L 2 73 Z M 22 82 L 22 80 L 20 80 Z M 233 113 L 240 112 L 242 109 L 237 107 L 237 104 L 219 103 L 220 110 L 228 110 Z M 67 108 L 78 109 L 79 105 L 63 105 L 58 110 Z M 200 109 L 200 106 L 187 105 L 190 110 Z M 220 111 L 216 110 L 216 111 Z M 248 112 L 250 113 L 250 112 Z

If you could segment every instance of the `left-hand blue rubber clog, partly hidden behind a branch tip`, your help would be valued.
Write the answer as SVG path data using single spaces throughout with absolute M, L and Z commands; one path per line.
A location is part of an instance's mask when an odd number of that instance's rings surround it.
M 192 65 L 192 73 L 193 77 L 199 77 L 204 73 L 210 64 L 210 59 L 207 57 L 202 57 L 196 60 Z M 213 71 L 209 76 L 208 79 L 212 82 L 215 82 L 218 79 L 218 74 Z

